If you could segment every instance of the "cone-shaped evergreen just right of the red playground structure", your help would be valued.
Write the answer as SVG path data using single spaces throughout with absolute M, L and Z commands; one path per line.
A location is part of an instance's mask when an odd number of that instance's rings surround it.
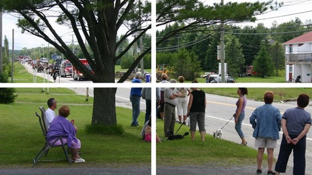
M 254 70 L 257 72 L 257 76 L 262 78 L 272 76 L 274 73 L 272 58 L 268 53 L 269 47 L 268 41 L 265 40 L 265 42 L 261 44 L 260 51 L 253 61 Z

